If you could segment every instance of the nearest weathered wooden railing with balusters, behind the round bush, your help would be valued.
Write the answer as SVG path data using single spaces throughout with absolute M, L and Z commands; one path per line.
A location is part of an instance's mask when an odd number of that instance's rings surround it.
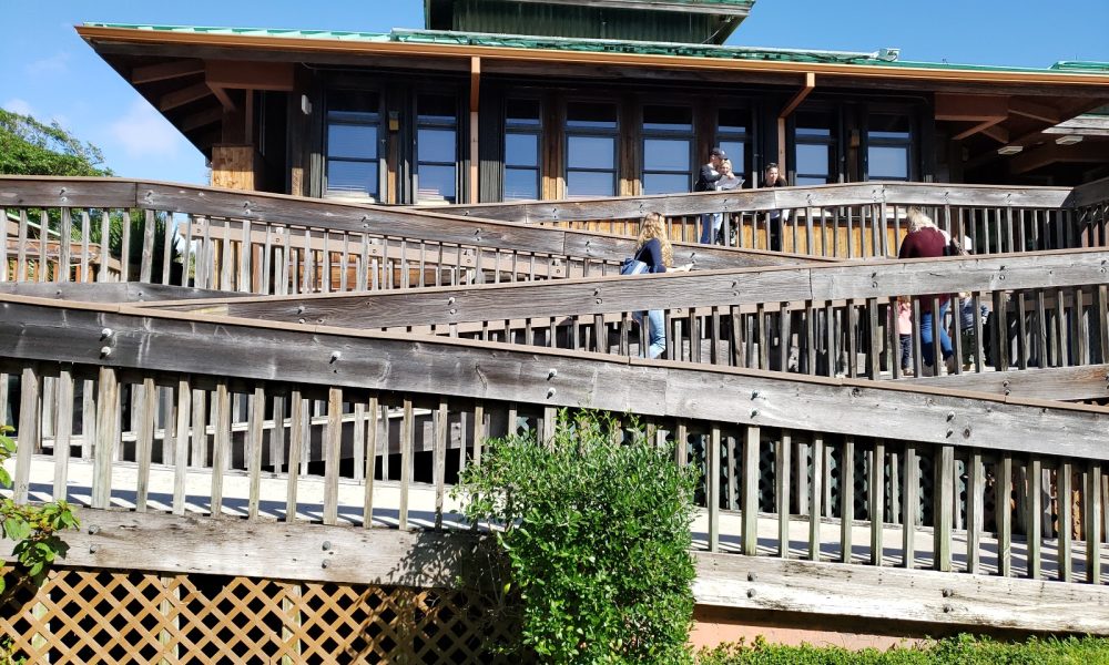
M 0 310 L 20 500 L 462 526 L 447 488 L 486 437 L 549 437 L 557 409 L 593 408 L 704 470 L 709 551 L 1106 583 L 1103 408 L 19 296 Z

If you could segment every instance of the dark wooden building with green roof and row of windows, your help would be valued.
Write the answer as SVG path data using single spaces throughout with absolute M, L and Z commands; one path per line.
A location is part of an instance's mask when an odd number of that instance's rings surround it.
M 1109 137 L 1083 120 L 1109 104 L 1109 64 L 720 45 L 751 4 L 428 0 L 426 29 L 384 34 L 78 32 L 222 186 L 390 204 L 662 194 L 688 192 L 713 145 L 746 187 L 772 162 L 796 185 L 1109 175 Z

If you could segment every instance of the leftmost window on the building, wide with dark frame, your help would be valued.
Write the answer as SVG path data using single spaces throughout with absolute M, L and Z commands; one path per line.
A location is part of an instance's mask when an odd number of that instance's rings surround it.
M 379 103 L 375 92 L 328 93 L 325 196 L 377 198 Z

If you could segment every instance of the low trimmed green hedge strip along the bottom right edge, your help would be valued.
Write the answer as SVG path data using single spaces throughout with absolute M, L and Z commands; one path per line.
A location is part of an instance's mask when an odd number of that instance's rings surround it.
M 698 654 L 699 665 L 1109 665 L 1109 640 L 1032 637 L 1022 643 L 959 635 L 922 646 L 848 651 L 836 646 L 723 645 Z

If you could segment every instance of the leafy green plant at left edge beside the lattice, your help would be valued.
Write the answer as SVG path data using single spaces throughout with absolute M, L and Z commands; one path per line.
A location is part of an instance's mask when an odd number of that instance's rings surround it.
M 0 428 L 0 464 L 16 453 L 16 442 L 8 436 L 10 427 Z M 11 477 L 0 467 L 0 487 L 11 487 Z M 14 541 L 12 554 L 34 584 L 45 579 L 47 567 L 58 556 L 65 556 L 67 544 L 59 533 L 77 529 L 80 522 L 65 501 L 42 505 L 19 504 L 10 498 L 0 500 L 0 534 Z M 4 580 L 0 576 L 0 593 Z

